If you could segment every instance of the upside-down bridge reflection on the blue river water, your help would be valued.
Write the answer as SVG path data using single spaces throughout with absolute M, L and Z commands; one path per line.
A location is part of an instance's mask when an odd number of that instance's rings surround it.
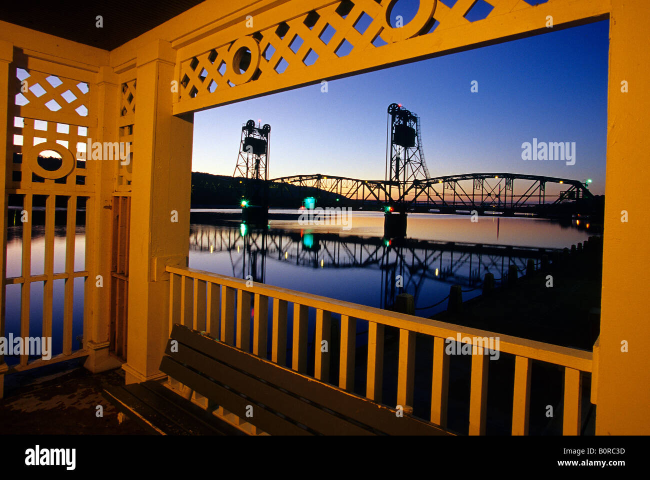
M 300 286 L 305 292 L 384 309 L 393 308 L 398 294 L 408 293 L 419 316 L 445 310 L 450 285 L 460 285 L 468 299 L 481 293 L 486 273 L 494 275 L 498 286 L 511 265 L 523 275 L 528 259 L 537 269 L 542 255 L 556 250 L 253 229 L 233 223 L 195 224 L 190 233 L 193 268 L 287 288 Z M 213 260 L 196 255 L 199 252 L 218 255 Z M 267 260 L 274 262 L 272 280 Z

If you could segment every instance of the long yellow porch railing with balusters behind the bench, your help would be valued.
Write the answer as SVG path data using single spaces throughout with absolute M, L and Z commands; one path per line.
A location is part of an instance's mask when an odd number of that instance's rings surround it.
M 328 351 L 339 352 L 338 385 L 352 391 L 354 387 L 354 358 L 356 349 L 356 319 L 368 322 L 368 359 L 365 396 L 382 401 L 383 342 L 386 326 L 399 329 L 397 405 L 412 407 L 415 373 L 415 335 L 434 338 L 433 375 L 430 420 L 447 427 L 447 398 L 449 355 L 445 339 L 463 341 L 469 337 L 474 355 L 471 359 L 471 391 L 469 399 L 469 434 L 484 435 L 486 431 L 488 355 L 484 355 L 485 340 L 499 338 L 500 353 L 515 356 L 513 388 L 512 434 L 527 435 L 530 409 L 530 378 L 532 360 L 564 368 L 564 435 L 580 435 L 582 422 L 582 372 L 591 372 L 592 353 L 568 347 L 545 344 L 489 331 L 471 329 L 452 323 L 437 322 L 408 314 L 365 307 L 347 301 L 297 292 L 278 286 L 247 282 L 235 277 L 203 272 L 192 268 L 167 266 L 170 273 L 170 331 L 181 323 L 205 331 L 222 342 L 286 364 L 287 311 L 293 306 L 291 368 L 300 373 L 307 370 L 307 330 L 309 309 L 316 310 L 314 338 L 314 377 L 327 380 L 330 355 L 318 347 L 327 342 Z M 269 299 L 272 299 L 271 351 L 267 351 Z M 253 300 L 251 322 L 250 305 Z M 331 345 L 331 315 L 341 316 L 340 342 Z M 251 330 L 252 323 L 252 332 Z M 252 342 L 251 342 L 252 334 Z M 332 349 L 331 347 L 337 347 Z M 269 355 L 270 354 L 270 355 Z

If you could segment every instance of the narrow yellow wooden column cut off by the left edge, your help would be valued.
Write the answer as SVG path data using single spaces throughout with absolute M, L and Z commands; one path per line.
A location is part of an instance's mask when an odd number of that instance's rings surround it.
M 8 132 L 9 128 L 9 105 L 12 101 L 9 95 L 10 69 L 9 64 L 14 58 L 14 45 L 9 42 L 0 41 L 0 132 Z M 0 336 L 5 335 L 5 277 L 6 277 L 6 172 L 7 164 L 11 162 L 7 158 L 8 134 L 0 135 L 0 152 L 2 152 L 3 168 L 0 169 L 0 235 L 2 235 L 2 252 L 0 253 Z M 5 391 L 5 364 L 4 355 L 0 355 L 0 398 L 3 398 Z

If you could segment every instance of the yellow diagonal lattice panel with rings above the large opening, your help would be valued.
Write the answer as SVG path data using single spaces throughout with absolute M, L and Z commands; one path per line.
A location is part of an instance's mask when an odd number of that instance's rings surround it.
M 452 4 L 452 7 L 445 5 Z M 482 12 L 476 12 L 478 2 Z M 229 88 L 274 75 L 354 57 L 420 35 L 530 8 L 524 0 L 421 0 L 415 18 L 394 28 L 390 0 L 343 0 L 252 32 L 181 61 L 179 99 L 218 95 Z M 482 13 L 482 14 L 481 14 Z M 469 18 L 469 19 L 468 19 Z M 201 42 L 203 44 L 203 42 Z

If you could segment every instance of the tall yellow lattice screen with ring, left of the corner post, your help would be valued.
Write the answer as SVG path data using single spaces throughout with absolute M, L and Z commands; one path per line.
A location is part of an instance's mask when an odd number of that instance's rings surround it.
M 47 360 L 58 362 L 71 358 L 71 355 L 83 355 L 83 351 L 75 353 L 77 343 L 72 338 L 74 281 L 87 279 L 89 275 L 85 269 L 92 255 L 92 242 L 85 242 L 85 251 L 78 251 L 77 220 L 85 218 L 86 229 L 92 229 L 97 160 L 86 160 L 86 150 L 88 140 L 94 141 L 97 119 L 89 111 L 90 86 L 86 82 L 16 68 L 14 89 L 16 96 L 10 112 L 13 125 L 10 125 L 10 157 L 5 166 L 8 174 L 5 195 L 9 196 L 12 206 L 19 208 L 22 254 L 20 275 L 5 277 L 4 284 L 20 285 L 21 336 L 29 336 L 35 327 L 30 313 L 32 290 L 42 288 L 41 332 L 42 336 L 52 336 L 54 282 L 64 281 L 63 355 Z M 17 201 L 19 205 L 16 205 Z M 44 203 L 44 207 L 38 203 Z M 66 210 L 65 257 L 62 271 L 57 272 L 55 225 L 57 218 L 61 222 L 59 210 Z M 44 221 L 40 220 L 42 218 Z M 34 225 L 38 230 L 32 229 Z M 37 233 L 41 225 L 44 225 L 42 249 L 36 247 L 41 245 Z M 32 244 L 32 240 L 36 242 Z M 32 263 L 40 261 L 43 261 L 42 273 L 33 272 Z M 79 264 L 78 268 L 75 264 Z M 89 291 L 86 285 L 84 314 L 89 309 Z M 39 296 L 34 297 L 38 299 Z M 27 355 L 21 355 L 20 367 L 27 367 L 29 360 Z

